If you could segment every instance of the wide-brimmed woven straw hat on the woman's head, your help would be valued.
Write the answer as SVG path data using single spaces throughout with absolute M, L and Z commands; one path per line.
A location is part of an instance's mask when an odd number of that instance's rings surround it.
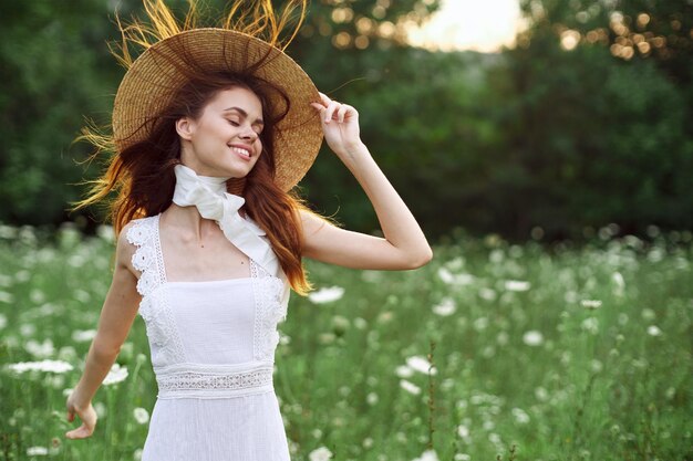
M 185 52 L 182 53 L 180 50 Z M 257 63 L 260 65 L 257 65 Z M 113 104 L 113 135 L 118 151 L 146 139 L 148 118 L 168 105 L 187 83 L 185 67 L 244 74 L 281 88 L 290 105 L 273 134 L 276 177 L 285 191 L 296 186 L 316 160 L 322 144 L 318 88 L 288 54 L 255 36 L 216 28 L 192 29 L 147 48 L 130 66 Z M 272 97 L 270 95 L 270 97 Z M 273 97 L 277 111 L 286 111 Z M 144 125 L 143 125 L 144 124 Z

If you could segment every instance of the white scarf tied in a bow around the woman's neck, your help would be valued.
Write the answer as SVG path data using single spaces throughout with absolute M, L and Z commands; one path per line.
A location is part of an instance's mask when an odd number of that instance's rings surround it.
M 176 188 L 174 203 L 180 207 L 197 207 L 200 216 L 211 219 L 219 224 L 224 235 L 246 253 L 270 275 L 285 279 L 283 271 L 277 255 L 265 235 L 250 217 L 244 219 L 238 210 L 246 199 L 226 191 L 226 181 L 229 178 L 199 176 L 192 168 L 178 164 L 174 168 Z

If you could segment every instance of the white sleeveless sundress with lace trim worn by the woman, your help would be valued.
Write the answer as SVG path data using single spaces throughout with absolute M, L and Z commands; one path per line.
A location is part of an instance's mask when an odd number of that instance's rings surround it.
M 289 460 L 272 384 L 286 276 L 249 259 L 250 277 L 168 282 L 159 217 L 134 220 L 126 235 L 158 385 L 142 461 Z

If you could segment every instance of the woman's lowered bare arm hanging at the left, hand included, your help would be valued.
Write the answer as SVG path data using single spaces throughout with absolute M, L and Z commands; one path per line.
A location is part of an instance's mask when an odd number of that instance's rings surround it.
M 130 226 L 125 226 L 117 239 L 113 282 L 101 311 L 96 336 L 86 355 L 84 371 L 68 397 L 68 421 L 72 422 L 75 415 L 82 420 L 81 427 L 65 433 L 69 439 L 83 439 L 94 432 L 96 412 L 92 399 L 121 352 L 142 300 L 131 262 L 135 247 L 125 238 Z

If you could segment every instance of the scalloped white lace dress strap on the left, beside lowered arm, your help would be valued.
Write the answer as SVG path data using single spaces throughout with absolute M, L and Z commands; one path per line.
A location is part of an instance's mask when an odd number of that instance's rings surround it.
M 137 292 L 145 296 L 166 281 L 164 259 L 158 237 L 159 214 L 133 220 L 127 230 L 127 241 L 137 250 L 133 254 L 133 268 L 142 272 Z

